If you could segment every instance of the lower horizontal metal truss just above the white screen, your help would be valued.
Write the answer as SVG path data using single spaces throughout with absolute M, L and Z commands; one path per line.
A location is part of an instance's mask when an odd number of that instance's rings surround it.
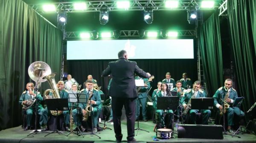
M 93 31 L 89 31 L 93 32 Z M 113 32 L 113 31 L 110 31 Z M 147 31 L 145 31 L 147 32 Z M 160 33 L 160 30 L 157 31 Z M 195 37 L 195 30 L 178 30 L 178 37 Z M 66 38 L 80 38 L 79 31 L 66 32 Z M 139 30 L 120 30 L 119 37 L 141 37 Z

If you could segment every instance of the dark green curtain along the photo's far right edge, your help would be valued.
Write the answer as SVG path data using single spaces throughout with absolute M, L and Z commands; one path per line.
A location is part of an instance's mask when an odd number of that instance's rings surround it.
M 247 111 L 256 101 L 256 1 L 228 0 L 227 4 L 237 90 L 245 97 L 242 105 Z

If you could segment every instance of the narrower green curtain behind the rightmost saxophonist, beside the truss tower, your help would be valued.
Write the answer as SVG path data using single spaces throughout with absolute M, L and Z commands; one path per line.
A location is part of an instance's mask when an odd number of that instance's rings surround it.
M 221 34 L 217 11 L 199 27 L 198 35 L 208 97 L 212 97 L 224 83 Z

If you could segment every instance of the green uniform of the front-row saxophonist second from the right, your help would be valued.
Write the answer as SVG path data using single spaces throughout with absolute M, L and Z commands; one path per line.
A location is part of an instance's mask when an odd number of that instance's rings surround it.
M 205 92 L 203 90 L 199 89 L 198 92 L 196 93 L 194 91 L 194 89 L 192 89 L 190 92 L 187 92 L 186 94 L 184 94 L 184 96 L 180 100 L 180 104 L 184 105 L 184 104 L 187 104 L 191 98 L 201 98 L 201 97 L 206 97 L 206 94 L 205 94 Z M 194 110 L 194 109 L 190 109 L 189 110 L 190 122 L 192 124 L 195 124 L 196 114 L 198 112 L 201 112 L 202 114 L 204 114 L 202 124 L 207 125 L 208 124 L 208 119 L 209 119 L 209 117 L 211 115 L 211 111 L 210 110 Z

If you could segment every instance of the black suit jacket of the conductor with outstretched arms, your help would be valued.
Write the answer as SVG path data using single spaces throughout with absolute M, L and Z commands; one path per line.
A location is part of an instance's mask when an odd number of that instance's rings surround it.
M 140 77 L 149 78 L 136 62 L 121 58 L 108 64 L 107 69 L 102 72 L 102 76 L 112 74 L 112 83 L 108 94 L 111 97 L 137 97 L 134 73 Z

